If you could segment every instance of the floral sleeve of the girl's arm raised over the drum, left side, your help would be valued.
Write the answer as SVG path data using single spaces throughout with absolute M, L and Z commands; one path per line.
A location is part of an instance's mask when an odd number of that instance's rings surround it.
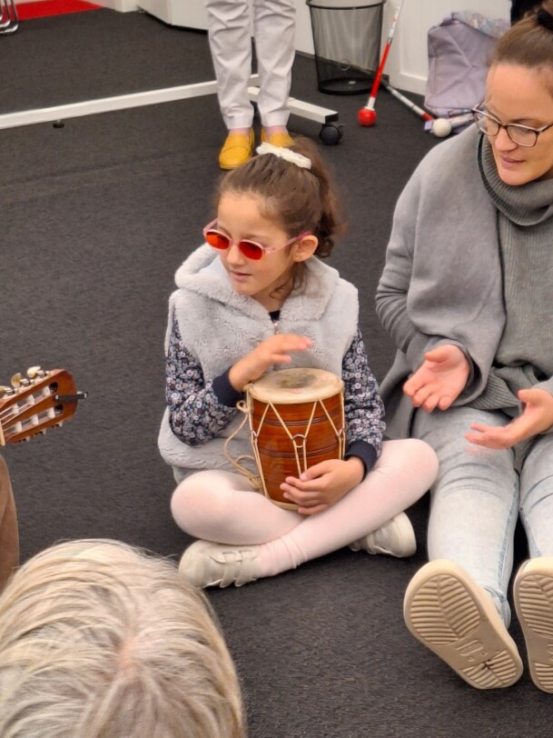
M 195 446 L 211 440 L 238 412 L 234 405 L 222 403 L 215 394 L 213 383 L 217 380 L 204 380 L 202 365 L 183 344 L 174 315 L 165 377 L 169 423 L 183 444 Z

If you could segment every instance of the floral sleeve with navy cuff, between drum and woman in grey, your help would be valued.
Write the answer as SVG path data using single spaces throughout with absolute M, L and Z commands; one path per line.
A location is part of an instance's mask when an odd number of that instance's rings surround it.
M 345 455 L 346 458 L 358 456 L 369 472 L 380 456 L 386 424 L 379 386 L 370 371 L 359 329 L 343 357 L 341 376 L 346 418 Z

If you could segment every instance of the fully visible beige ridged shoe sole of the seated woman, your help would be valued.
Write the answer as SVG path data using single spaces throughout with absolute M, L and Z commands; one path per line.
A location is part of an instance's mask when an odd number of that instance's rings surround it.
M 494 603 L 456 563 L 434 561 L 413 577 L 404 617 L 410 633 L 476 689 L 509 687 L 522 675 Z

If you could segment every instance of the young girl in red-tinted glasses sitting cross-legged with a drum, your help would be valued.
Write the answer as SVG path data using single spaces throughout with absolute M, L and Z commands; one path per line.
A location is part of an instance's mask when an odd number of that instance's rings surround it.
M 382 442 L 384 408 L 358 325 L 358 294 L 321 259 L 344 225 L 316 147 L 263 144 L 222 178 L 216 219 L 176 274 L 166 336 L 167 408 L 159 444 L 179 483 L 172 512 L 200 539 L 180 571 L 198 587 L 253 582 L 342 546 L 409 556 L 402 512 L 437 474 L 428 444 Z M 244 387 L 275 369 L 312 367 L 344 383 L 343 460 L 281 483 L 288 509 L 254 491 L 223 449 Z M 232 455 L 252 454 L 248 429 Z

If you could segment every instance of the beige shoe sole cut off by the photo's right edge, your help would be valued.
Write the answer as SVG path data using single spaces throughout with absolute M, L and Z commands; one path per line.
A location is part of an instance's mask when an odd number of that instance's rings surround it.
M 553 558 L 530 559 L 513 586 L 532 681 L 553 693 Z

